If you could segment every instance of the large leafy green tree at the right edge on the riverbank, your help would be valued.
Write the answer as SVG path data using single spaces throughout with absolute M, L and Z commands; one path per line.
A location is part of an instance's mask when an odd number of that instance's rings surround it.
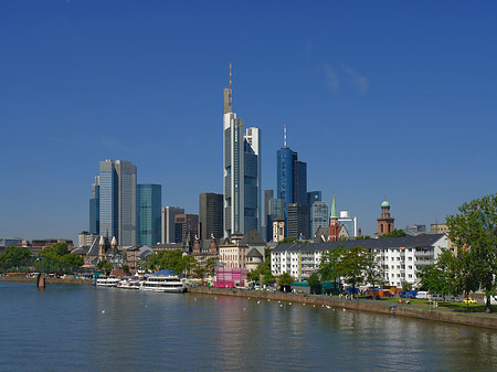
M 466 252 L 468 284 L 477 284 L 487 297 L 497 294 L 497 194 L 464 203 L 457 214 L 447 215 L 448 236 L 458 252 Z

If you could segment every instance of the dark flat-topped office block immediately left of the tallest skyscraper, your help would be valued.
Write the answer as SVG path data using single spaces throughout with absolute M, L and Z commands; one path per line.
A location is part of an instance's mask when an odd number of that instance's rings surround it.
M 199 195 L 199 237 L 223 237 L 223 194 L 204 192 Z

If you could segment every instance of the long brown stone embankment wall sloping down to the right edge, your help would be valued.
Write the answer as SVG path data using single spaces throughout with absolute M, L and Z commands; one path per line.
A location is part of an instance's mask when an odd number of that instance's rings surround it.
M 496 315 L 487 315 L 482 312 L 467 313 L 451 309 L 441 309 L 441 308 L 434 309 L 419 305 L 405 305 L 405 304 L 401 305 L 387 302 L 382 300 L 373 301 L 366 299 L 346 300 L 328 296 L 284 294 L 281 291 L 269 293 L 262 290 L 242 290 L 242 289 L 207 288 L 207 287 L 189 288 L 189 291 L 193 294 L 250 297 L 250 298 L 279 300 L 295 304 L 329 306 L 332 308 L 379 312 L 406 318 L 437 320 L 464 326 L 497 329 Z

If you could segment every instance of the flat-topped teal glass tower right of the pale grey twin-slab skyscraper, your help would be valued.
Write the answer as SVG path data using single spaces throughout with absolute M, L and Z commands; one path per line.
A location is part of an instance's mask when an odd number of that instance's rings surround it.
M 154 245 L 161 238 L 162 188 L 160 184 L 138 184 L 138 245 Z

